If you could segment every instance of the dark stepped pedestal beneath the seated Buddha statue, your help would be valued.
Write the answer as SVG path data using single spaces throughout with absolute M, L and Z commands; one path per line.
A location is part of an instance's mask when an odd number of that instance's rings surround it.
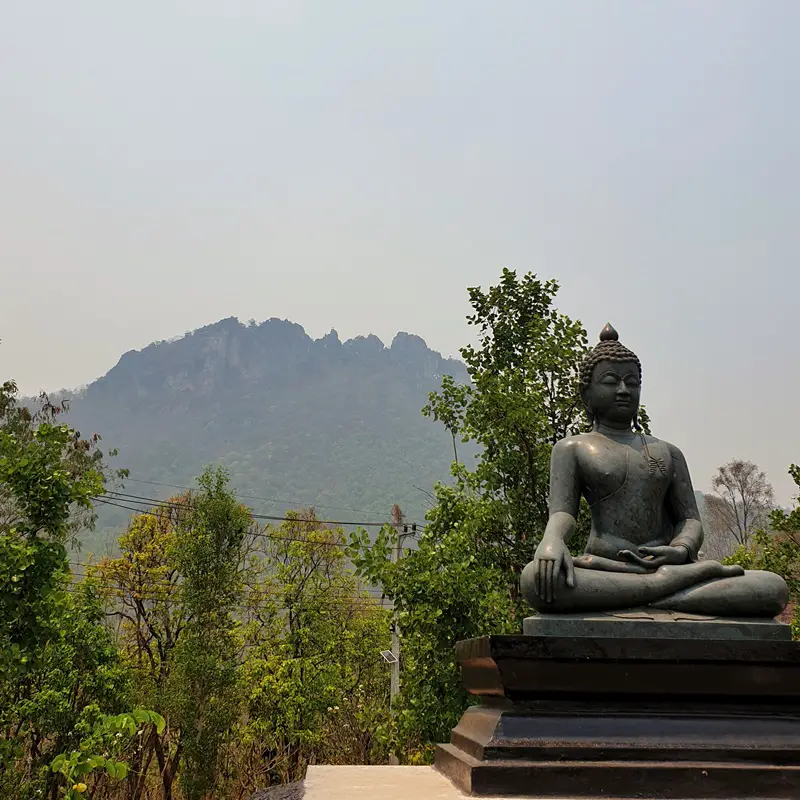
M 800 797 L 800 644 L 485 636 L 436 767 L 474 795 Z

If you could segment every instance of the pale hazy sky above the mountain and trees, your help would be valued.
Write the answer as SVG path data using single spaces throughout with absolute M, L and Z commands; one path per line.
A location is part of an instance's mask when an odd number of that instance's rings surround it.
M 1 377 L 235 315 L 468 340 L 561 282 L 695 484 L 800 461 L 796 0 L 0 0 Z

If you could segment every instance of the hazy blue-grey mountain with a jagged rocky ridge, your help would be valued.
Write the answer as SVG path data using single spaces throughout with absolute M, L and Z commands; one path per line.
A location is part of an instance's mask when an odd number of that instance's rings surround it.
M 179 490 L 158 484 L 192 485 L 214 463 L 264 514 L 314 504 L 328 519 L 381 521 L 396 502 L 421 521 L 453 455 L 447 431 L 420 413 L 443 374 L 467 380 L 412 334 L 386 347 L 229 318 L 125 353 L 72 396 L 67 419 L 118 449 L 130 494 L 166 498 Z M 106 509 L 84 550 L 112 544 L 127 517 Z

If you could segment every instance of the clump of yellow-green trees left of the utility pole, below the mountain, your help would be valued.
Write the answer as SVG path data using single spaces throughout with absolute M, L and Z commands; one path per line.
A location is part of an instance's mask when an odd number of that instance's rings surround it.
M 342 544 L 313 512 L 255 527 L 221 470 L 132 520 L 88 579 L 120 618 L 136 702 L 166 720 L 131 754 L 132 797 L 156 783 L 224 797 L 313 760 L 385 761 L 388 614 Z

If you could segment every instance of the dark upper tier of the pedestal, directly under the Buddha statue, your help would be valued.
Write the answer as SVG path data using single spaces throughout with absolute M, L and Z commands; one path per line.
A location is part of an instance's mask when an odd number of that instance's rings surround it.
M 482 636 L 459 642 L 456 656 L 470 694 L 516 703 L 611 696 L 800 702 L 798 642 Z

